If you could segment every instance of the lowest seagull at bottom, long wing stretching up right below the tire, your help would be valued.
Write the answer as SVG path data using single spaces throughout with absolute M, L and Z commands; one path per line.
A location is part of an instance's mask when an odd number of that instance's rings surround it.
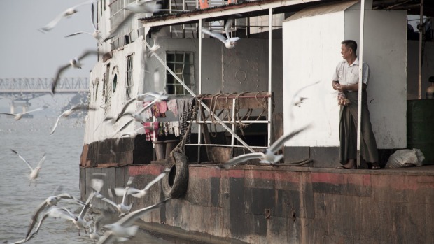
M 120 220 L 118 220 L 118 222 L 104 225 L 104 228 L 106 228 L 107 231 L 106 233 L 104 233 L 104 236 L 99 239 L 99 242 L 97 244 L 112 243 L 113 241 L 115 241 L 115 239 L 118 242 L 129 240 L 136 235 L 137 229 L 139 229 L 137 225 L 133 225 L 134 222 L 145 213 L 148 213 L 155 208 L 160 208 L 160 206 L 165 204 L 169 199 L 165 199 L 164 201 L 161 201 L 160 203 L 157 203 L 153 206 L 148 206 L 146 208 L 135 210 L 134 212 L 128 213 L 127 215 L 122 217 Z

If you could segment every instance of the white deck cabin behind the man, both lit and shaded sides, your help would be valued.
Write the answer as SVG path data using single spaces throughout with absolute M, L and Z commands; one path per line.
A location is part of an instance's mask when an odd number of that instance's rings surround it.
M 332 71 L 342 60 L 340 42 L 358 43 L 360 10 L 345 10 L 283 22 L 283 93 L 285 133 L 311 123 L 287 146 L 339 146 L 339 106 L 332 89 Z M 405 148 L 406 43 L 405 11 L 365 10 L 364 60 L 370 64 L 367 89 L 371 122 L 378 148 Z M 295 92 L 307 96 L 298 108 L 291 105 Z M 293 110 L 295 119 L 291 119 Z

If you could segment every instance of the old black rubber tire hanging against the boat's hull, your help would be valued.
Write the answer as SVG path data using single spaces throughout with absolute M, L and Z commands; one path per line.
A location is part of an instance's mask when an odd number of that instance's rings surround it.
M 186 155 L 174 152 L 174 158 L 176 162 L 172 162 L 169 173 L 162 179 L 162 190 L 165 196 L 179 199 L 187 191 L 188 164 Z

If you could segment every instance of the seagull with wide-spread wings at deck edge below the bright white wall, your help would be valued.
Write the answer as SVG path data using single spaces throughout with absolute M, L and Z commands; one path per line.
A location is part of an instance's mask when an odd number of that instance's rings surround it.
M 265 164 L 276 164 L 283 157 L 283 155 L 276 155 L 276 152 L 280 150 L 280 148 L 288 141 L 290 138 L 293 138 L 300 132 L 307 129 L 308 126 L 303 127 L 302 129 L 297 129 L 296 131 L 291 132 L 290 134 L 286 134 L 281 136 L 277 141 L 275 141 L 269 148 L 266 148 L 264 152 L 251 152 L 245 155 L 239 155 L 238 157 L 234 157 L 230 159 L 225 164 L 218 166 L 219 168 L 228 168 L 229 166 L 234 166 L 240 164 L 249 159 L 260 159 L 260 163 Z

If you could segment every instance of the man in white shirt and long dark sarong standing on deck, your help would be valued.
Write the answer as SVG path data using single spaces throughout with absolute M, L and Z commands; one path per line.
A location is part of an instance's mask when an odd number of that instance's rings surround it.
M 342 41 L 341 54 L 344 60 L 339 62 L 333 73 L 332 86 L 339 92 L 339 162 L 337 168 L 356 168 L 357 157 L 357 111 L 358 111 L 358 73 L 359 62 L 356 55 L 357 43 L 353 40 Z M 367 81 L 369 66 L 363 62 L 362 76 L 362 117 L 360 124 L 360 157 L 372 169 L 379 169 L 378 150 L 367 109 Z

